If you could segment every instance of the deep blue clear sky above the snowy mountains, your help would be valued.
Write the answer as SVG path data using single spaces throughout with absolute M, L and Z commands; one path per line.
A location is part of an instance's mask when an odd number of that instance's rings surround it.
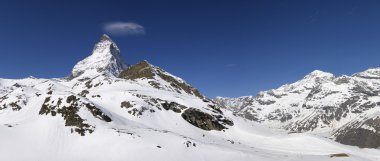
M 371 0 L 5 0 L 0 77 L 66 76 L 108 33 L 129 64 L 146 59 L 209 97 L 255 95 L 315 69 L 379 67 L 379 17 Z M 115 22 L 140 28 L 105 29 Z

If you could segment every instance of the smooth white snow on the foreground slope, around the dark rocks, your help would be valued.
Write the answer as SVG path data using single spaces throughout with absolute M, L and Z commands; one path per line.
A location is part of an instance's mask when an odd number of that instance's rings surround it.
M 109 78 L 98 77 L 96 80 Z M 74 94 L 71 89 L 77 80 L 0 80 L 2 87 L 15 83 L 25 86 L 22 93 L 27 105 L 19 111 L 9 108 L 0 113 L 0 160 L 130 160 L 130 161 L 278 161 L 278 160 L 378 160 L 378 150 L 359 149 L 341 145 L 329 139 L 308 134 L 287 134 L 268 129 L 252 121 L 223 113 L 234 121 L 225 131 L 205 131 L 192 126 L 172 111 L 157 111 L 135 117 L 116 102 L 133 100 L 134 93 L 165 100 L 175 100 L 189 107 L 200 107 L 204 102 L 191 95 L 153 90 L 145 82 L 120 80 L 93 89 L 88 101 L 94 102 L 111 116 L 106 123 L 91 118 L 88 111 L 80 115 L 96 130 L 80 136 L 71 133 L 60 117 L 41 116 L 39 110 L 53 87 L 53 95 Z M 104 81 L 104 80 L 103 80 Z M 33 87 L 26 87 L 34 84 Z M 82 87 L 78 87 L 80 89 Z M 17 92 L 17 91 L 13 91 Z M 40 96 L 36 96 L 40 93 Z M 137 101 L 137 100 L 136 100 Z M 349 157 L 331 158 L 331 154 L 345 153 Z

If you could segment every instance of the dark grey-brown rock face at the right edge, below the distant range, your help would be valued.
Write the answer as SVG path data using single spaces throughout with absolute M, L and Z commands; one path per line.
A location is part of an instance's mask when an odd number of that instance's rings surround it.
M 380 147 L 380 117 L 366 120 L 363 124 L 353 124 L 335 133 L 336 141 L 359 146 L 360 148 Z

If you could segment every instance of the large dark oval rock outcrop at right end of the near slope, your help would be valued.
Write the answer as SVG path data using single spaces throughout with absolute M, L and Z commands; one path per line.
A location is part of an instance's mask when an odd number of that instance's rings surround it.
M 232 121 L 224 119 L 222 118 L 222 116 L 212 116 L 194 108 L 189 108 L 185 112 L 183 112 L 182 118 L 190 124 L 208 131 L 221 131 L 227 129 L 224 125 L 233 125 Z

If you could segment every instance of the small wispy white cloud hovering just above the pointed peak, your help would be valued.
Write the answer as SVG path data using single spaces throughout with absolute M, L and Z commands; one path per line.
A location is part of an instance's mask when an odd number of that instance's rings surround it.
M 119 36 L 145 35 L 145 28 L 134 22 L 109 22 L 104 24 L 104 31 Z

